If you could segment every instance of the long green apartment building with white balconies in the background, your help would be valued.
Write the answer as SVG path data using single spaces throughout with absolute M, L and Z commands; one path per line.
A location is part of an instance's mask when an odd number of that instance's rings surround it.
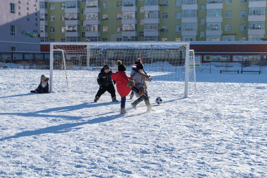
M 257 41 L 266 0 L 40 0 L 41 42 Z

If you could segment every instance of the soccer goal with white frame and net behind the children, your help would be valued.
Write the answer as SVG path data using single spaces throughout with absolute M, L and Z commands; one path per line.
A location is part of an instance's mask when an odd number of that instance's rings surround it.
M 91 77 L 89 72 L 97 77 L 103 65 L 116 72 L 117 60 L 127 66 L 130 76 L 137 58 L 153 81 L 183 82 L 184 97 L 196 92 L 194 51 L 189 49 L 189 42 L 52 42 L 50 92 L 55 86 L 83 90 L 79 84 Z M 64 84 L 59 79 L 64 79 Z

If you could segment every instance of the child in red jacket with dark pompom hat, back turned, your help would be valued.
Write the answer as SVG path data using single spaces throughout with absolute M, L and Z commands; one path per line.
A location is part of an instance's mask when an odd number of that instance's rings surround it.
M 132 81 L 130 77 L 128 77 L 125 73 L 126 67 L 122 64 L 122 61 L 118 60 L 118 72 L 111 74 L 111 79 L 116 81 L 117 85 L 117 91 L 122 97 L 121 99 L 121 114 L 126 113 L 125 111 L 125 102 L 126 102 L 126 96 L 130 93 L 132 87 L 128 87 L 127 83 L 128 81 Z M 130 82 L 131 83 L 131 82 Z M 132 81 L 132 83 L 134 83 Z M 133 85 L 132 85 L 133 86 Z

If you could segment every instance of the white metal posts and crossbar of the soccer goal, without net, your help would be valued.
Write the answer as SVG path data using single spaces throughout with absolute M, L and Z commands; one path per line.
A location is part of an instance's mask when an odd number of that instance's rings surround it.
M 188 81 L 189 81 L 189 66 L 192 64 L 192 61 L 190 62 L 190 58 L 194 58 L 194 50 L 190 50 L 190 42 L 51 42 L 50 43 L 50 92 L 53 92 L 53 53 L 54 51 L 60 51 L 62 52 L 62 56 L 64 58 L 64 49 L 54 49 L 55 45 L 86 45 L 87 50 L 89 50 L 90 45 L 178 45 L 178 46 L 185 46 L 185 69 L 184 69 L 184 97 L 188 96 Z M 88 51 L 87 51 L 88 52 Z M 66 65 L 64 58 L 64 65 Z M 87 70 L 89 70 L 89 57 L 87 59 Z M 196 81 L 195 81 L 195 64 L 193 60 L 193 73 L 194 73 L 194 88 L 196 92 Z M 64 70 L 66 73 L 66 66 L 64 66 Z M 190 69 L 192 70 L 192 69 Z M 66 80 L 67 80 L 67 86 L 68 86 L 68 77 L 66 73 Z

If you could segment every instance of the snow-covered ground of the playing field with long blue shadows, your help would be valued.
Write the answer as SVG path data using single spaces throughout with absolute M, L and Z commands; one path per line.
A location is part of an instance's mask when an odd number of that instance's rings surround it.
M 144 102 L 135 111 L 128 96 L 125 115 L 108 92 L 92 102 L 99 71 L 76 71 L 72 90 L 61 77 L 35 94 L 48 70 L 0 69 L 0 177 L 266 178 L 267 68 L 220 69 L 198 70 L 187 98 L 182 82 L 147 83 L 157 111 Z

